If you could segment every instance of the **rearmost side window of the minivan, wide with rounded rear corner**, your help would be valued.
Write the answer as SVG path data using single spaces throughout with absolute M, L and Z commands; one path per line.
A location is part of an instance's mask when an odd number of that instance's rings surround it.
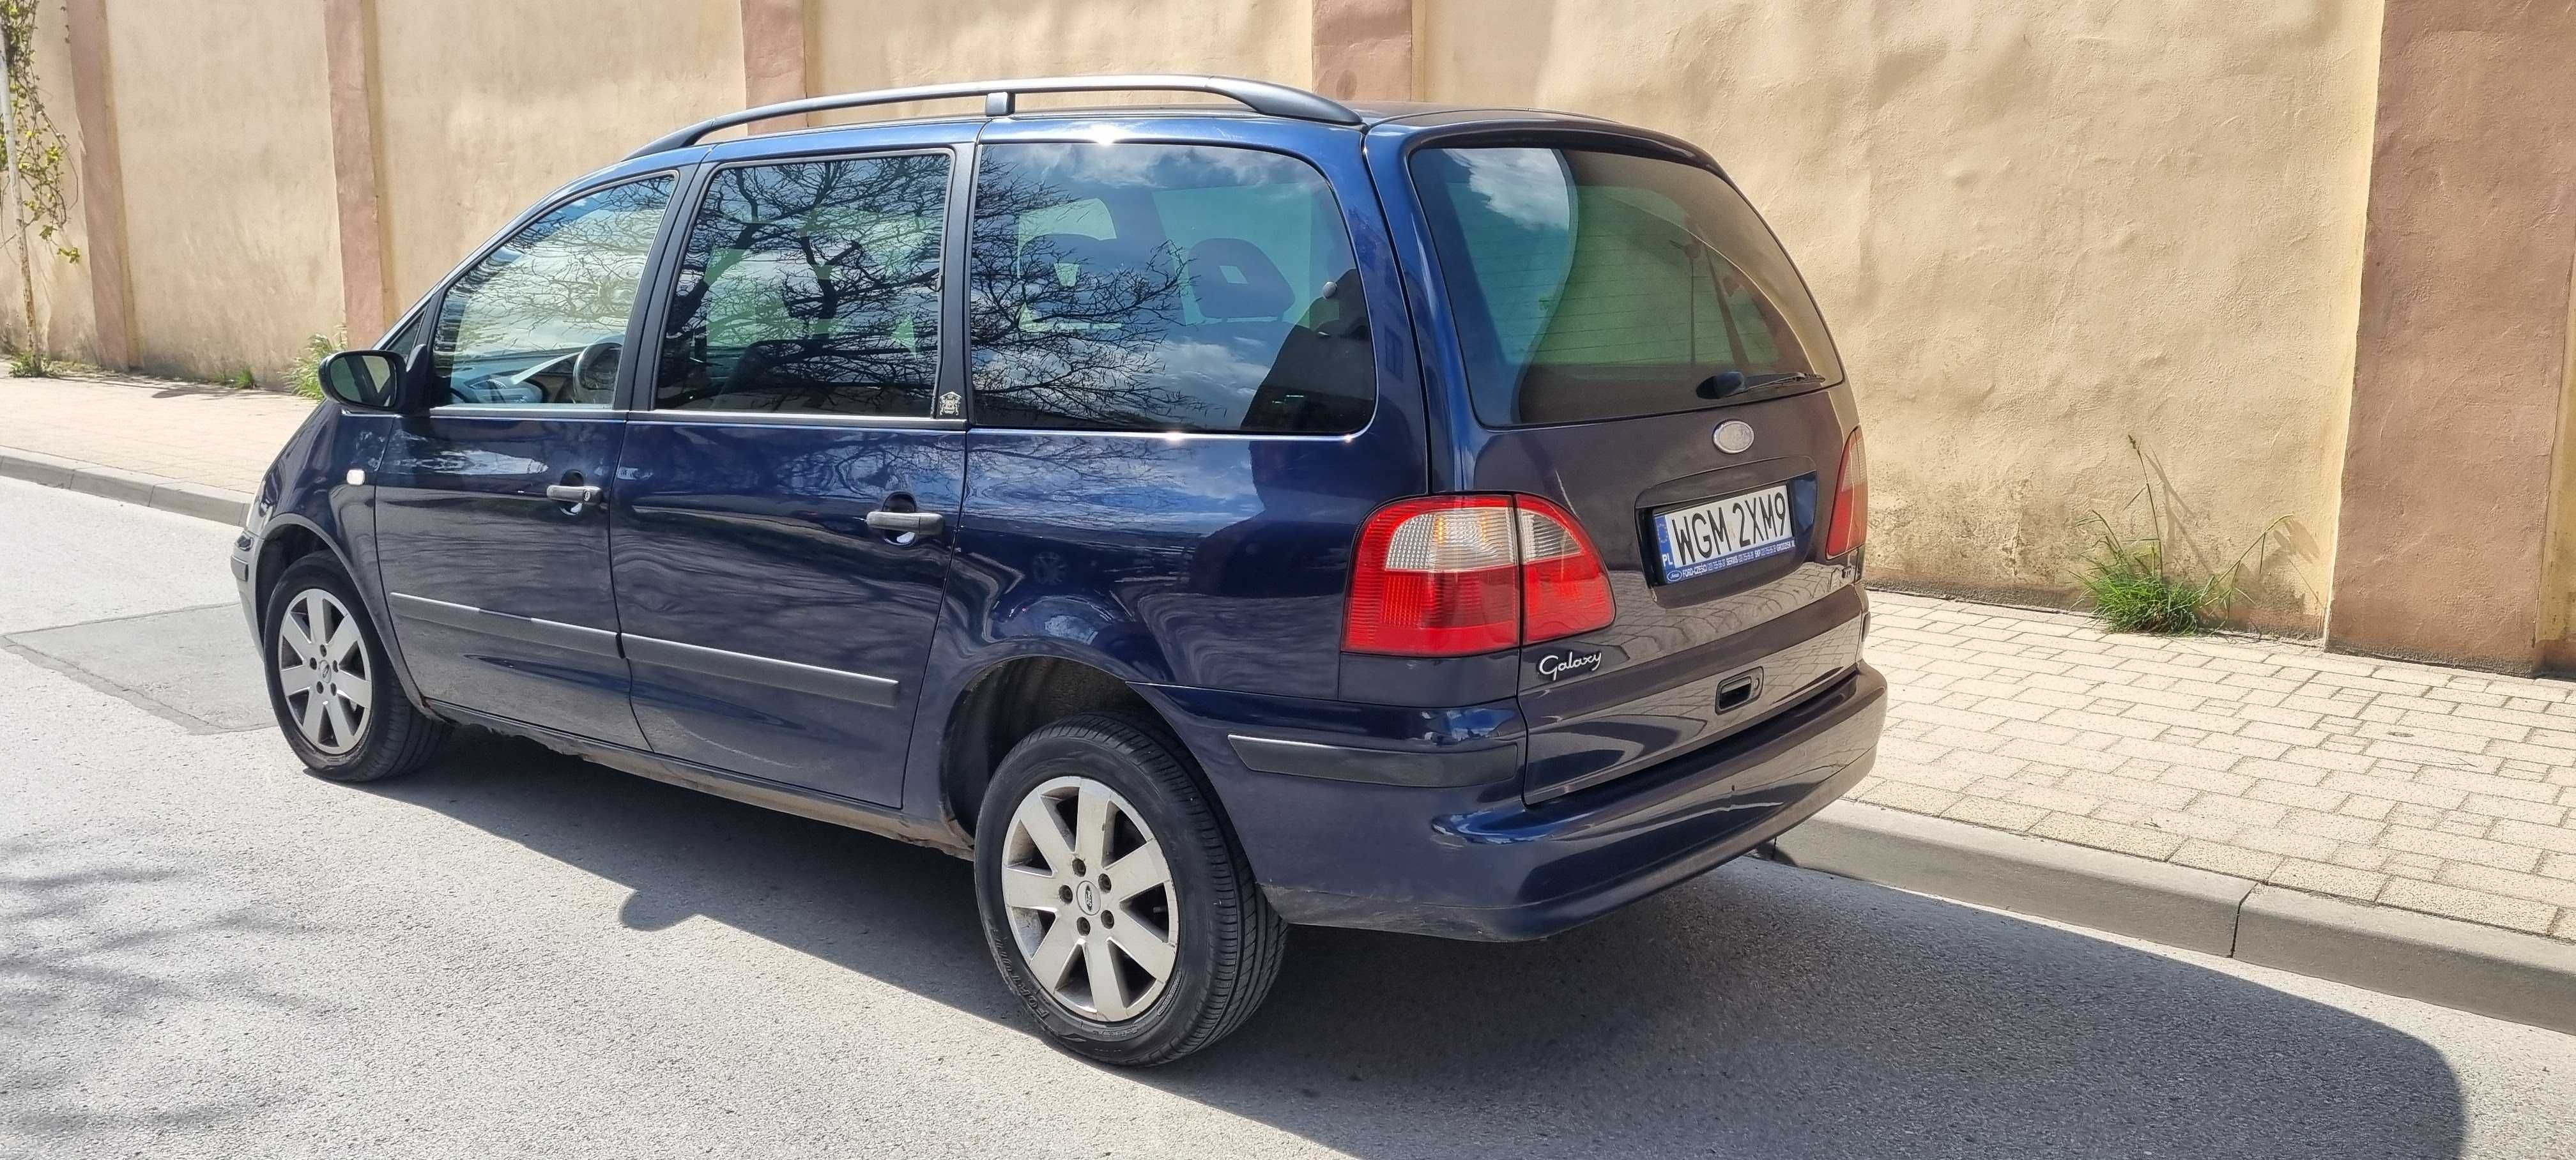
M 1321 173 L 1190 144 L 992 144 L 969 278 L 976 423 L 1360 430 L 1368 307 Z

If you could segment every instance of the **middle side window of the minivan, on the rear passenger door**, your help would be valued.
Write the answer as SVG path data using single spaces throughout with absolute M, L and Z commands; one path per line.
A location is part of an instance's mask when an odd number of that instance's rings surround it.
M 948 155 L 716 173 L 654 407 L 930 415 Z

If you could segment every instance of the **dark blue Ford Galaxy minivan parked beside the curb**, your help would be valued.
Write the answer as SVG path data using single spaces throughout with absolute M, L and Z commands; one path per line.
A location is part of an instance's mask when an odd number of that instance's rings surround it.
M 1229 103 L 1020 108 L 1108 90 Z M 933 98 L 981 111 L 706 142 Z M 1613 121 L 765 106 L 322 371 L 232 554 L 314 773 L 469 724 L 969 856 L 1002 980 L 1105 1062 L 1229 1034 L 1296 923 L 1535 938 L 1685 882 L 1883 722 L 1834 340 L 1705 152 Z

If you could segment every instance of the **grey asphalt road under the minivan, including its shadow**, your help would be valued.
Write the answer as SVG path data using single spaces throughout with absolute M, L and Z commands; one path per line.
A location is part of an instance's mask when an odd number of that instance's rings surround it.
M 1522 946 L 1298 931 L 1064 1057 L 966 864 L 263 719 L 232 531 L 0 479 L 0 1155 L 2576 1155 L 2576 1039 L 1770 864 Z

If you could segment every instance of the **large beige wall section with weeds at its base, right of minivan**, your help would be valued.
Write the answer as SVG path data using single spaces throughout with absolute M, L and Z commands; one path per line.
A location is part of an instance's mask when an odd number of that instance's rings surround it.
M 1430 101 L 1667 129 L 1744 183 L 1852 369 L 1878 575 L 2063 598 L 2138 436 L 2192 559 L 2287 516 L 2241 614 L 2318 626 L 2375 0 L 1419 3 Z

